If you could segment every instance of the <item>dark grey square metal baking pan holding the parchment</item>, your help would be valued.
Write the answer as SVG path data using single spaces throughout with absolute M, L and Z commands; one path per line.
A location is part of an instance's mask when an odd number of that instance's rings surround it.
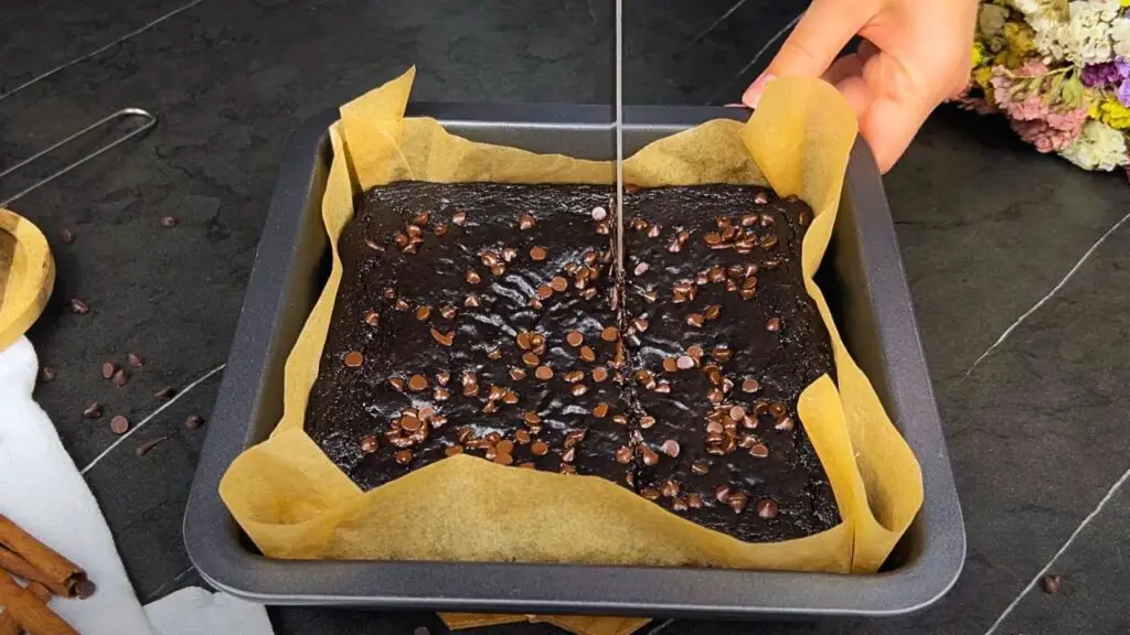
M 610 159 L 607 106 L 424 105 L 451 132 L 539 153 Z M 626 151 L 733 108 L 627 107 Z M 192 562 L 217 589 L 271 604 L 471 612 L 771 618 L 896 616 L 938 600 L 965 559 L 965 529 L 894 225 L 866 145 L 852 150 L 820 272 L 847 348 L 922 464 L 925 503 L 875 575 L 692 567 L 281 560 L 261 556 L 220 502 L 220 477 L 282 414 L 282 366 L 325 279 L 320 215 L 332 150 L 327 111 L 290 138 L 184 519 Z

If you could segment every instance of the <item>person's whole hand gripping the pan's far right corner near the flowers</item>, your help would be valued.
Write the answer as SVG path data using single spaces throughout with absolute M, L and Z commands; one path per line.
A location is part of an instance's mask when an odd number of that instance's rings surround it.
M 855 111 L 886 173 L 933 108 L 965 89 L 976 18 L 977 0 L 812 0 L 741 101 L 756 107 L 777 77 L 820 77 Z M 837 60 L 857 34 L 859 51 Z

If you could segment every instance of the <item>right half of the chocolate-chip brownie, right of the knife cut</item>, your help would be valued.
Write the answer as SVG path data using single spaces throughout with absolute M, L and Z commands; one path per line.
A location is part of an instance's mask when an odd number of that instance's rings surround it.
M 838 523 L 796 411 L 834 373 L 801 272 L 810 208 L 710 185 L 640 190 L 624 210 L 641 494 L 753 542 Z

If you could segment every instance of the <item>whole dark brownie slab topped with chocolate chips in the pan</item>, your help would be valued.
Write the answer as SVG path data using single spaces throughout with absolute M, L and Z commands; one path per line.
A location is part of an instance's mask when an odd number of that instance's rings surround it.
M 363 489 L 453 453 L 593 475 L 748 541 L 840 522 L 811 210 L 763 188 L 395 183 L 355 200 L 306 432 Z

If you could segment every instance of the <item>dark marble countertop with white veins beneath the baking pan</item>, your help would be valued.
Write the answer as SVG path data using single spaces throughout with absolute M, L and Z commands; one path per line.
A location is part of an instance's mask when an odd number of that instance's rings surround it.
M 205 430 L 183 423 L 207 418 L 215 400 L 287 133 L 410 63 L 418 99 L 607 103 L 611 2 L 9 5 L 0 11 L 0 169 L 124 107 L 159 120 L 11 206 L 49 235 L 59 268 L 31 333 L 58 379 L 36 398 L 88 468 L 147 601 L 201 583 L 181 520 Z M 773 47 L 758 52 L 802 6 L 625 0 L 626 99 L 734 101 Z M 0 200 L 129 125 L 0 180 Z M 662 633 L 979 634 L 1001 616 L 996 633 L 1127 632 L 1130 487 L 1116 484 L 1130 468 L 1130 185 L 1041 156 L 999 121 L 944 110 L 886 186 L 964 506 L 964 574 L 909 618 L 676 621 Z M 166 216 L 177 225 L 164 227 Z M 64 228 L 72 244 L 61 241 Z M 71 297 L 90 313 L 72 315 Z M 102 363 L 128 351 L 146 366 L 114 388 Z M 153 393 L 166 384 L 184 390 L 162 408 Z M 145 427 L 103 454 L 115 436 L 108 417 L 81 417 L 92 401 Z M 169 438 L 136 454 L 159 436 Z M 1028 589 L 1048 566 L 1063 580 L 1054 595 Z M 282 634 L 440 629 L 423 614 L 271 615 Z M 519 632 L 551 628 L 483 630 Z

